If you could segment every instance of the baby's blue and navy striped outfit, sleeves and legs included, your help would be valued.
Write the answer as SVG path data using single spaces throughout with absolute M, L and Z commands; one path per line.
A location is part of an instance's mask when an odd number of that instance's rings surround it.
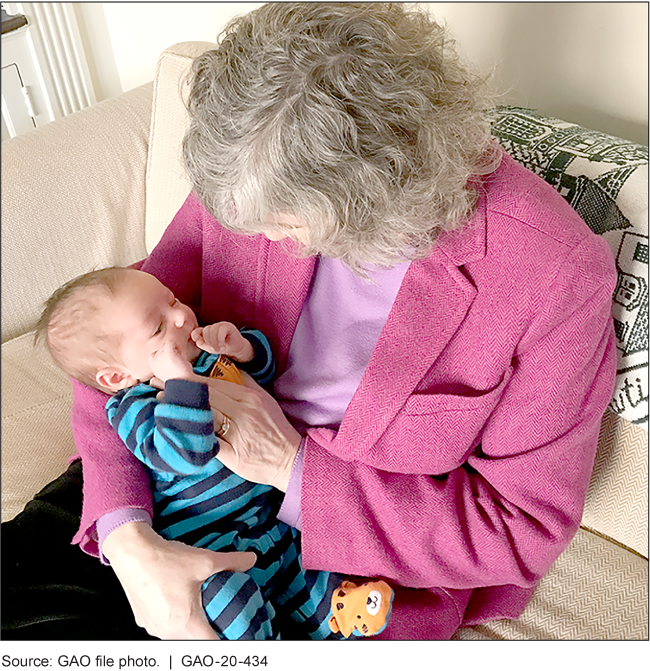
M 275 364 L 266 337 L 241 333 L 255 355 L 240 368 L 259 384 L 270 382 Z M 216 359 L 202 353 L 195 372 L 209 375 Z M 213 628 L 228 640 L 338 638 L 328 619 L 342 576 L 303 570 L 299 532 L 277 519 L 280 492 L 240 478 L 215 458 L 219 443 L 207 386 L 169 380 L 160 402 L 157 393 L 139 384 L 106 404 L 109 422 L 148 467 L 156 530 L 188 545 L 258 557 L 246 573 L 223 571 L 203 583 Z

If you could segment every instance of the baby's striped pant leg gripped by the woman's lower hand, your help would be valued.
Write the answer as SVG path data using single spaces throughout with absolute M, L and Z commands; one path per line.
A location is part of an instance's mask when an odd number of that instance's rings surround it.
M 279 637 L 275 608 L 247 573 L 215 573 L 203 583 L 202 600 L 212 628 L 227 640 Z

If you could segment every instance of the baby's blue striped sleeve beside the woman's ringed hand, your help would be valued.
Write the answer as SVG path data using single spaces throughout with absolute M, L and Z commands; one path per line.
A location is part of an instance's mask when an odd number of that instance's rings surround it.
M 173 474 L 202 470 L 217 454 L 207 386 L 169 380 L 157 390 L 138 385 L 112 397 L 106 415 L 127 448 L 150 469 Z

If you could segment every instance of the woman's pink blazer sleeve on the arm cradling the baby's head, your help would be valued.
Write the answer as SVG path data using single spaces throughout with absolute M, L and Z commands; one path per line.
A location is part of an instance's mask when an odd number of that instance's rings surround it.
M 201 303 L 202 215 L 201 206 L 190 195 L 151 255 L 138 264 L 197 310 Z M 77 382 L 73 388 L 72 429 L 84 475 L 82 517 L 73 543 L 98 556 L 97 520 L 122 508 L 142 508 L 152 514 L 151 492 L 143 466 L 106 420 L 106 395 Z

